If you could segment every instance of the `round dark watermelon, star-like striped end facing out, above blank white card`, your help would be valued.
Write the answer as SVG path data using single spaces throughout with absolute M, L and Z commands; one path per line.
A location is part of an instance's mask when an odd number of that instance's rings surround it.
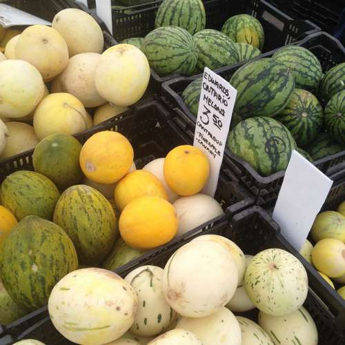
M 290 130 L 298 146 L 313 141 L 324 124 L 322 106 L 317 98 L 299 88 L 295 88 L 288 105 L 275 119 Z

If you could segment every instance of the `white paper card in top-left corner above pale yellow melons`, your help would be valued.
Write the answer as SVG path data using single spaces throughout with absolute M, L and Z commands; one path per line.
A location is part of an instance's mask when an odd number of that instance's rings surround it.
M 51 25 L 49 21 L 23 12 L 18 8 L 0 3 L 0 26 L 10 28 L 10 26 L 30 26 L 35 24 Z

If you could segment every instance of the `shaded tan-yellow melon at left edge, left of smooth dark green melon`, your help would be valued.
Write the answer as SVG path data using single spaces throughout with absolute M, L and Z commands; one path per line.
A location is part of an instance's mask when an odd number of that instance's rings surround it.
M 8 122 L 6 126 L 8 128 L 8 137 L 0 159 L 31 150 L 39 144 L 39 138 L 37 138 L 32 126 L 23 124 L 23 122 Z

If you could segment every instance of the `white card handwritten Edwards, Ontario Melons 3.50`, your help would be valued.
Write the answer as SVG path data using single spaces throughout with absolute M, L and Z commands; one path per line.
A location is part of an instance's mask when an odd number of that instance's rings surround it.
M 228 81 L 209 68 L 204 69 L 194 146 L 201 148 L 210 162 L 210 177 L 202 193 L 211 197 L 217 189 L 236 95 L 237 90 Z

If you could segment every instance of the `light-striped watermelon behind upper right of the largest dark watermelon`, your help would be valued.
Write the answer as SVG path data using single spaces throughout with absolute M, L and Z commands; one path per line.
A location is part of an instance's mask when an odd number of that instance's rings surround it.
M 315 92 L 322 78 L 322 67 L 315 55 L 306 48 L 286 46 L 273 55 L 273 59 L 284 63 L 295 77 L 296 88 Z

